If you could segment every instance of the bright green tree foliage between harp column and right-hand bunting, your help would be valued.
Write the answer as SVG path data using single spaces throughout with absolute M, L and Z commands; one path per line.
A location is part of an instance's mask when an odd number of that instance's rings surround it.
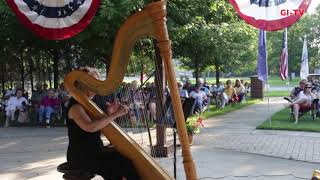
M 170 1 L 168 14 L 174 56 L 183 68 L 196 75 L 217 69 L 254 71 L 256 32 L 239 20 L 228 1 Z

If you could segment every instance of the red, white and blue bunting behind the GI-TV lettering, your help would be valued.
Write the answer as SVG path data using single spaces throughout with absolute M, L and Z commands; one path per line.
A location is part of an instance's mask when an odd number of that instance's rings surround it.
M 307 11 L 311 0 L 230 0 L 248 24 L 267 31 L 287 28 Z

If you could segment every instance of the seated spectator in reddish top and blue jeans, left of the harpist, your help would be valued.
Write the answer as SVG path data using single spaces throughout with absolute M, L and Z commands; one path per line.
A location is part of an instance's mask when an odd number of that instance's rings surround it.
M 60 105 L 60 101 L 57 97 L 55 97 L 55 93 L 53 89 L 49 89 L 47 96 L 45 96 L 40 101 L 39 108 L 39 122 L 46 123 L 47 127 L 50 127 L 50 118 L 51 114 L 55 112 L 55 109 Z M 45 118 L 45 122 L 43 122 L 43 118 Z

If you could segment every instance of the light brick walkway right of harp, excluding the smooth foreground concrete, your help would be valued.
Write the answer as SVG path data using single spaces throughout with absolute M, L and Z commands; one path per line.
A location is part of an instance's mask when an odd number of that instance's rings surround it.
M 270 114 L 283 109 L 283 103 L 272 98 Z M 219 149 L 320 163 L 319 133 L 256 130 L 267 117 L 266 105 L 260 103 L 208 119 L 199 139 Z

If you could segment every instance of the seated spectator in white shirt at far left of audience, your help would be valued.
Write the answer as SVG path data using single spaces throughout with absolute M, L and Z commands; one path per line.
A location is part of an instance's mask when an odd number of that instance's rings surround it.
M 10 120 L 14 121 L 15 113 L 18 111 L 19 116 L 23 116 L 20 113 L 27 113 L 25 110 L 25 106 L 29 105 L 28 100 L 23 97 L 23 90 L 17 89 L 16 90 L 16 96 L 12 96 L 9 98 L 7 107 L 6 107 L 6 122 L 5 127 L 9 127 Z M 26 116 L 27 117 L 27 116 Z M 19 122 L 24 122 L 25 119 L 22 119 L 22 117 L 19 119 Z

